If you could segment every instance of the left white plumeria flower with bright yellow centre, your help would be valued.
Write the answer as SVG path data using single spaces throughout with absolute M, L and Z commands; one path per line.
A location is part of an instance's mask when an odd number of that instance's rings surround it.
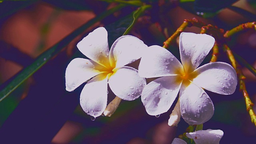
M 145 78 L 138 76 L 138 70 L 125 66 L 141 58 L 141 53 L 148 48 L 140 39 L 121 36 L 109 50 L 108 33 L 100 27 L 83 38 L 77 47 L 91 60 L 75 58 L 68 64 L 66 90 L 73 91 L 92 78 L 80 94 L 80 104 L 87 114 L 98 117 L 104 112 L 108 84 L 123 100 L 135 100 L 141 95 Z

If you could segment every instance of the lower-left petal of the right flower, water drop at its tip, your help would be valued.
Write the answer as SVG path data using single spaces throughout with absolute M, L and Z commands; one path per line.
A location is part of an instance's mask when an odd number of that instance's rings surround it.
M 156 116 L 167 112 L 180 90 L 178 76 L 164 76 L 145 86 L 141 100 L 149 115 Z

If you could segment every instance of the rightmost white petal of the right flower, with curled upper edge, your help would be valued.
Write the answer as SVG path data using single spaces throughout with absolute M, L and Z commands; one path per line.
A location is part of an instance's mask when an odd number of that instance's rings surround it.
M 233 94 L 236 90 L 236 71 L 227 63 L 208 63 L 197 68 L 193 73 L 198 75 L 193 82 L 206 90 L 218 94 Z

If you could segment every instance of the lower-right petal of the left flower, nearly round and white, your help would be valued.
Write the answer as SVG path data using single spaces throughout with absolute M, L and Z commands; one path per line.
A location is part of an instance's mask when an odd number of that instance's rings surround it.
M 123 66 L 110 76 L 108 84 L 119 98 L 135 100 L 141 95 L 146 80 L 138 75 L 138 70 Z

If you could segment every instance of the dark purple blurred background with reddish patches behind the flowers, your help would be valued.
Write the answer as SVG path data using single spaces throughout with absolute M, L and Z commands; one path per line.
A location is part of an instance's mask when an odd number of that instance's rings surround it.
M 152 8 L 138 18 L 129 34 L 140 38 L 148 46 L 162 46 L 184 19 L 195 17 L 225 31 L 242 23 L 256 21 L 256 0 L 142 1 L 151 4 Z M 40 54 L 89 20 L 118 5 L 100 0 L 1 2 L 1 89 L 24 67 L 32 64 Z M 76 57 L 84 58 L 76 48 L 76 44 L 88 32 L 99 26 L 106 26 L 107 30 L 115 28 L 114 26 L 118 28 L 115 22 L 124 20 L 137 8 L 126 6 L 84 29 L 58 55 L 52 57 L 2 100 L 0 142 L 2 144 L 170 144 L 174 138 L 184 133 L 188 124 L 182 118 L 177 127 L 168 126 L 169 115 L 174 105 L 168 112 L 156 118 L 146 113 L 140 98 L 134 101 L 122 100 L 111 117 L 100 116 L 96 120 L 91 120 L 79 104 L 80 92 L 85 83 L 74 92 L 65 90 L 64 76 L 68 63 Z M 200 28 L 186 28 L 185 32 L 199 33 Z M 112 33 L 109 32 L 108 36 L 110 37 Z M 114 40 L 118 37 L 114 37 Z M 109 40 L 109 46 L 114 40 Z M 255 30 L 245 30 L 232 36 L 228 45 L 256 68 Z M 168 50 L 179 59 L 177 43 Z M 221 48 L 219 51 L 218 61 L 230 63 Z M 202 64 L 208 63 L 210 58 L 211 52 Z M 134 66 L 138 66 L 138 62 Z M 242 70 L 247 78 L 248 93 L 255 103 L 256 77 L 246 68 Z M 115 96 L 110 89 L 108 91 L 108 102 L 110 102 Z M 223 130 L 224 136 L 220 144 L 256 143 L 256 127 L 251 123 L 239 87 L 234 94 L 228 96 L 209 91 L 207 93 L 214 103 L 215 111 L 214 116 L 204 124 L 203 129 Z

